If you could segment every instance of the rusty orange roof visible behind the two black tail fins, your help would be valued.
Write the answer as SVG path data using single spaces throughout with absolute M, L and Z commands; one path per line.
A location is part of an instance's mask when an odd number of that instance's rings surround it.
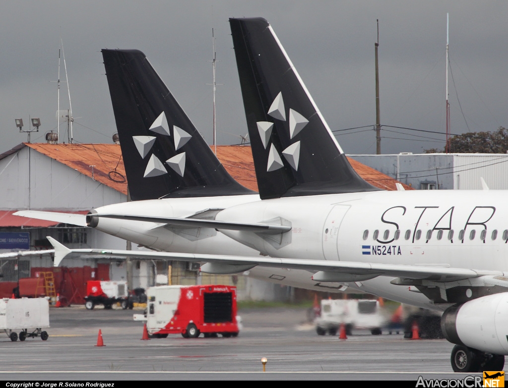
M 120 146 L 117 144 L 48 144 L 25 143 L 54 160 L 74 168 L 87 177 L 111 187 L 123 194 L 127 194 L 127 181 Z M 214 147 L 212 147 L 214 150 Z M 217 146 L 217 158 L 224 165 L 231 176 L 241 185 L 250 190 L 258 191 L 256 172 L 250 146 Z M 396 190 L 397 182 L 388 175 L 366 166 L 354 159 L 348 158 L 353 168 L 371 185 L 383 190 Z M 412 190 L 402 185 L 406 190 Z

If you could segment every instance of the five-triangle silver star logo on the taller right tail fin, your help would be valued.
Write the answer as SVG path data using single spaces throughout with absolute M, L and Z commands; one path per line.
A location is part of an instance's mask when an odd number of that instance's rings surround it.
M 284 109 L 284 100 L 282 99 L 282 92 L 277 94 L 277 97 L 273 100 L 270 108 L 268 109 L 268 115 L 274 119 L 286 121 L 286 114 Z M 290 138 L 293 139 L 300 131 L 308 124 L 308 120 L 293 109 L 289 110 L 289 133 Z M 258 132 L 261 137 L 263 147 L 268 147 L 270 142 L 270 136 L 272 135 L 273 123 L 269 121 L 258 121 Z M 295 170 L 298 170 L 298 162 L 300 161 L 300 140 L 293 143 L 291 146 L 282 151 L 282 156 Z M 282 158 L 273 144 L 270 145 L 268 150 L 268 163 L 267 172 L 278 170 L 283 167 Z

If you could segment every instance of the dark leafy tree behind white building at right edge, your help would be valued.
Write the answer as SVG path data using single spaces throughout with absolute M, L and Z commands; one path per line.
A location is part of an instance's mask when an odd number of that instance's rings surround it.
M 449 152 L 453 154 L 505 154 L 508 151 L 508 129 L 499 127 L 494 132 L 467 132 L 450 137 Z M 425 153 L 442 153 L 435 148 Z

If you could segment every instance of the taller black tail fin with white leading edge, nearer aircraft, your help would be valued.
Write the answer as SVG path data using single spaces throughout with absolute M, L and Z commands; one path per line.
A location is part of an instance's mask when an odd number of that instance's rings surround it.
M 347 161 L 270 24 L 230 25 L 261 198 L 378 191 Z

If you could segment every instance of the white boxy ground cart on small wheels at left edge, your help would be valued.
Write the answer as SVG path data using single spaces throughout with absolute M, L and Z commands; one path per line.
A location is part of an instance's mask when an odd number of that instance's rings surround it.
M 48 339 L 42 329 L 49 327 L 49 302 L 46 298 L 0 299 L 0 330 L 11 341 L 24 341 L 26 337 L 41 336 Z

